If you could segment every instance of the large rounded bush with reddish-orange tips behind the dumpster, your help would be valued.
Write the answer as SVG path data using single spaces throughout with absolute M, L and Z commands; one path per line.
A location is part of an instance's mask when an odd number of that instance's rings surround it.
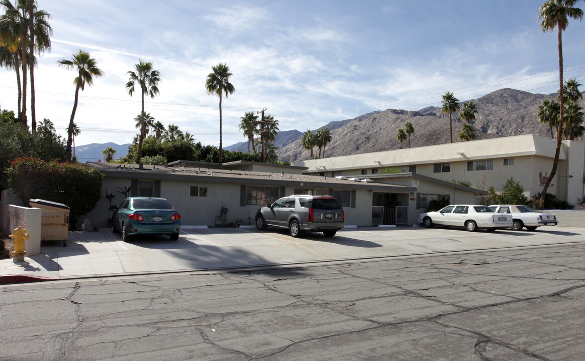
M 101 197 L 104 174 L 85 164 L 46 162 L 21 157 L 11 162 L 8 181 L 24 204 L 30 198 L 67 205 L 70 225 L 94 209 Z

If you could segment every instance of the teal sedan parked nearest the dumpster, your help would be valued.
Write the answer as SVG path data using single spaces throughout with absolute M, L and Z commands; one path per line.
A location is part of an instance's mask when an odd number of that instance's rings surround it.
M 122 240 L 139 234 L 163 234 L 179 238 L 181 215 L 164 198 L 129 197 L 119 207 L 113 206 L 112 232 L 122 233 Z

